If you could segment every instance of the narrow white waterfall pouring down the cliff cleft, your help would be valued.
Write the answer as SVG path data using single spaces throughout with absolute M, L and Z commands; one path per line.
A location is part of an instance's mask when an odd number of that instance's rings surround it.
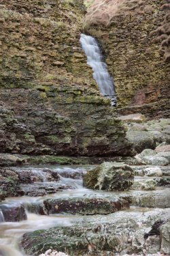
M 95 38 L 81 34 L 80 43 L 87 56 L 87 63 L 93 70 L 93 78 L 97 81 L 101 94 L 111 100 L 112 106 L 116 106 L 116 93 L 114 79 L 107 71 L 107 65 L 103 62 L 103 56 Z

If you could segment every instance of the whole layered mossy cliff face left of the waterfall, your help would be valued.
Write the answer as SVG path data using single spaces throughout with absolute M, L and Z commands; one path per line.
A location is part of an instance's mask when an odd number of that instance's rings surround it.
M 0 153 L 128 154 L 80 47 L 84 13 L 80 0 L 1 1 Z

